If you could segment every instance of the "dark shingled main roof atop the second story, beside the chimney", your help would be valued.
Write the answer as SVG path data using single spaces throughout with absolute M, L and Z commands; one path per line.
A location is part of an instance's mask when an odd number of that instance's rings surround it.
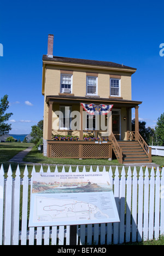
M 46 55 L 43 55 L 43 61 L 54 61 L 54 62 L 61 61 L 61 62 L 81 63 L 81 64 L 95 65 L 95 66 L 129 68 L 129 69 L 133 69 L 134 71 L 136 71 L 136 68 L 128 67 L 125 65 L 121 65 L 121 64 L 109 62 L 109 61 L 84 60 L 84 59 L 74 59 L 74 58 L 58 57 L 58 56 L 49 58 Z

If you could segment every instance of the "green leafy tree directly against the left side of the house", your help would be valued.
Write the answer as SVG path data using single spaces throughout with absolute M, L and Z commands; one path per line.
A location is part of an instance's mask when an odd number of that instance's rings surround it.
M 39 146 L 43 143 L 43 120 L 40 120 L 37 125 L 32 126 L 32 131 L 30 133 L 32 139 L 31 142 Z

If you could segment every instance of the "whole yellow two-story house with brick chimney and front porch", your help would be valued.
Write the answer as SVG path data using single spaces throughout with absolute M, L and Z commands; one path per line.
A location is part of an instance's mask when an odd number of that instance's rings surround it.
M 150 162 L 150 150 L 139 135 L 142 102 L 132 101 L 131 75 L 136 68 L 54 56 L 53 40 L 49 34 L 48 54 L 43 55 L 44 155 L 112 159 L 113 151 L 121 163 Z M 132 108 L 136 113 L 133 132 Z

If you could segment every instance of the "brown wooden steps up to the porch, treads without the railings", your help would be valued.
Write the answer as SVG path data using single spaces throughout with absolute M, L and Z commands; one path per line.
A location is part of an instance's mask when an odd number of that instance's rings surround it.
M 122 149 L 122 163 L 134 164 L 144 163 L 149 161 L 148 155 L 144 152 L 138 141 L 118 141 L 120 148 Z

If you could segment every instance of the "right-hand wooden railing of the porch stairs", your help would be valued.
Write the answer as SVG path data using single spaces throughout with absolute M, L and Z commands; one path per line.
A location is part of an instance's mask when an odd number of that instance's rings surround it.
M 144 141 L 139 132 L 127 131 L 127 140 L 138 141 L 139 145 L 142 147 L 145 154 L 147 154 L 149 161 L 151 162 L 151 147 L 148 146 L 147 142 Z

